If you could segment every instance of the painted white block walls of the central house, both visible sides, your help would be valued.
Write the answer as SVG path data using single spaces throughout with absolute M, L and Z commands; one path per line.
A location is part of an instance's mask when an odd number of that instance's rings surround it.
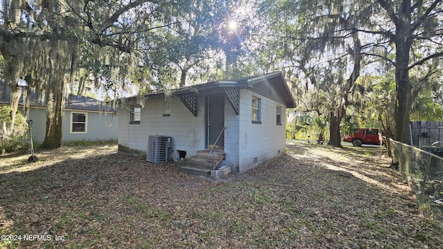
M 252 96 L 261 99 L 261 124 L 253 124 Z M 129 124 L 130 113 L 120 111 L 118 145 L 146 153 L 149 136 L 172 137 L 171 158 L 178 159 L 177 150 L 194 156 L 206 148 L 206 97 L 199 94 L 198 115 L 172 97 L 170 116 L 163 116 L 163 98 L 152 98 L 141 109 L 140 124 Z M 282 107 L 282 124 L 277 125 L 275 109 Z M 265 160 L 284 153 L 286 131 L 284 104 L 271 100 L 250 89 L 240 90 L 240 112 L 235 113 L 228 98 L 224 100 L 224 151 L 226 159 L 220 166 L 230 166 L 235 172 L 245 172 Z M 256 159 L 256 160 L 255 160 Z

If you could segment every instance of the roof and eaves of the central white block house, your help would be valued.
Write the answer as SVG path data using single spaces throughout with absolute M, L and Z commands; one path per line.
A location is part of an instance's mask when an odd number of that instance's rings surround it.
M 287 108 L 296 107 L 296 102 L 293 99 L 292 93 L 289 90 L 286 81 L 283 78 L 281 72 L 267 73 L 264 75 L 257 75 L 252 77 L 243 77 L 237 80 L 218 80 L 215 82 L 207 82 L 205 84 L 198 84 L 195 86 L 186 86 L 181 89 L 177 89 L 172 91 L 174 95 L 181 95 L 185 93 L 198 93 L 200 91 L 208 91 L 211 89 L 217 88 L 234 88 L 234 89 L 261 89 L 264 95 L 267 95 L 266 87 L 263 87 L 264 84 L 269 84 L 273 91 L 277 93 Z M 260 87 L 261 86 L 261 87 Z M 270 91 L 270 89 L 267 89 Z M 260 92 L 260 91 L 259 91 Z M 145 95 L 147 98 L 152 97 L 160 97 L 163 96 L 163 93 L 150 93 Z M 127 98 L 127 100 L 132 101 L 137 97 Z

